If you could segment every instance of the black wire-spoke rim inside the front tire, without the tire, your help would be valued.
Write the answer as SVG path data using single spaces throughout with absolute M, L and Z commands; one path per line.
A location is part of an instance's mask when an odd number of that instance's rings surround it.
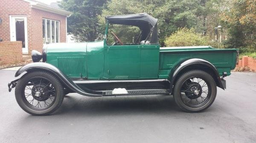
M 46 78 L 34 77 L 24 85 L 23 100 L 37 110 L 47 109 L 55 102 L 56 91 L 53 84 Z

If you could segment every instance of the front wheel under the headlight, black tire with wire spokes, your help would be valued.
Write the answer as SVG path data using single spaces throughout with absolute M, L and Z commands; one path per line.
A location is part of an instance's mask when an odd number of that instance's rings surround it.
M 34 83 L 32 84 L 31 81 L 36 80 L 37 78 L 38 79 L 41 78 L 39 87 L 44 84 L 41 82 L 45 82 L 44 88 L 47 88 L 48 90 L 50 88 L 52 88 L 49 90 L 48 93 L 44 92 L 44 94 L 47 95 L 47 97 L 48 97 L 48 98 L 46 97 L 47 99 L 45 99 L 45 96 L 41 97 L 41 98 L 44 98 L 44 99 L 40 98 L 41 100 L 38 99 L 39 97 L 37 97 L 37 99 L 35 99 L 36 96 L 35 96 L 35 94 L 33 95 L 33 93 L 35 93 L 37 91 L 38 84 L 36 84 L 36 85 Z M 49 82 L 49 85 L 46 85 L 47 81 Z M 28 86 L 30 86 L 30 87 L 28 87 Z M 26 90 L 29 90 L 28 88 L 31 90 L 30 94 L 25 92 Z M 44 90 L 44 89 L 41 88 L 40 90 Z M 43 91 L 41 91 L 41 92 L 43 92 Z M 29 95 L 26 95 L 26 94 L 29 94 Z M 41 94 L 39 94 L 39 96 L 43 96 L 43 94 L 42 95 Z M 29 103 L 29 101 L 27 101 L 28 96 L 30 96 L 30 98 L 32 98 L 33 102 L 34 102 L 34 100 L 35 100 L 35 102 L 36 101 L 39 102 L 38 108 L 37 108 L 37 105 L 33 105 L 33 103 L 31 104 L 31 103 Z M 16 101 L 19 104 L 19 106 L 27 113 L 29 113 L 31 115 L 49 115 L 61 106 L 61 103 L 64 98 L 64 90 L 61 85 L 61 82 L 55 76 L 53 76 L 51 73 L 45 72 L 45 71 L 35 71 L 35 72 L 31 72 L 31 73 L 26 73 L 24 76 L 22 76 L 19 79 L 19 81 L 16 84 L 16 88 L 15 88 L 15 98 L 16 98 Z M 50 99 L 50 101 L 52 101 L 51 104 L 48 103 L 49 101 L 48 102 L 46 101 L 49 99 Z M 40 100 L 40 101 L 38 101 L 38 100 Z M 44 102 L 44 104 L 45 104 L 44 108 L 40 109 L 40 107 L 41 107 L 40 102 L 42 102 L 42 103 Z M 49 104 L 49 107 L 48 107 L 47 103 Z M 39 107 L 39 104 L 40 104 L 40 107 Z

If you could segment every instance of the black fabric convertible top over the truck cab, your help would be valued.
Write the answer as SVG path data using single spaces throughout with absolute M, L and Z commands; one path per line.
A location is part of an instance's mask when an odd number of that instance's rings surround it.
M 157 19 L 147 13 L 107 16 L 105 19 L 111 24 L 137 26 L 142 31 L 141 40 L 150 40 L 157 44 Z M 150 39 L 148 39 L 150 38 Z

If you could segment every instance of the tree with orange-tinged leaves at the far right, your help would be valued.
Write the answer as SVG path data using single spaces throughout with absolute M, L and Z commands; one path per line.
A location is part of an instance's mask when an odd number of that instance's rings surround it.
M 256 50 L 256 0 L 233 0 L 221 20 L 229 28 L 228 48 Z

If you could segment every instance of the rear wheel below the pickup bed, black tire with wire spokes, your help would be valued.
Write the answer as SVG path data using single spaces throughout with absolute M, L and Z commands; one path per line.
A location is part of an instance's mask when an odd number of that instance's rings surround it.
M 194 78 L 199 79 L 199 85 L 196 84 L 196 81 L 194 82 Z M 191 81 L 192 79 L 193 81 Z M 200 79 L 203 79 L 203 81 L 205 81 L 207 85 L 207 88 L 209 88 L 207 93 L 204 92 L 206 95 L 206 97 L 204 97 L 205 100 L 204 98 L 201 97 L 204 85 L 202 86 L 200 84 L 200 82 L 202 82 L 200 81 Z M 194 87 L 192 87 L 193 84 L 195 84 Z M 198 93 L 198 91 L 200 91 L 200 87 L 198 86 L 201 87 L 201 94 Z M 194 88 L 197 91 L 192 90 Z M 182 109 L 183 111 L 201 112 L 212 105 L 213 101 L 215 100 L 216 93 L 217 93 L 216 83 L 211 75 L 209 75 L 208 73 L 202 70 L 191 70 L 184 73 L 182 76 L 179 77 L 179 79 L 177 79 L 174 86 L 174 90 L 173 90 L 173 97 L 178 107 L 180 107 L 180 109 Z M 200 99 L 200 97 L 201 97 L 202 103 L 197 105 L 197 103 L 199 103 L 198 100 Z M 186 98 L 188 98 L 188 100 Z M 193 100 L 196 100 L 196 101 L 193 101 Z M 192 101 L 194 103 L 196 102 L 196 104 L 193 105 Z M 191 102 L 191 105 L 189 104 L 189 102 Z

